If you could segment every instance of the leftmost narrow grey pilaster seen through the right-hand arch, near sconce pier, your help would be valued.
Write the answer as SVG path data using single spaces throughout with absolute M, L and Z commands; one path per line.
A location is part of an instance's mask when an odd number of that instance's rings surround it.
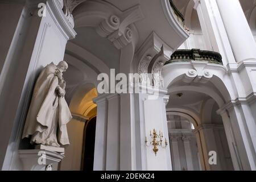
M 172 151 L 172 159 L 174 159 L 174 166 L 172 166 L 172 168 L 175 171 L 181 171 L 178 139 L 179 137 L 171 137 L 171 146 L 170 146 Z

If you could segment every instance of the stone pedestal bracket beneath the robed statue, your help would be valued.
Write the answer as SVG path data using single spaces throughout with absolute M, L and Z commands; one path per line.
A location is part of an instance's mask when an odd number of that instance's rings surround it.
M 40 149 L 19 150 L 18 154 L 24 171 L 57 171 L 57 164 L 64 158 L 58 152 Z

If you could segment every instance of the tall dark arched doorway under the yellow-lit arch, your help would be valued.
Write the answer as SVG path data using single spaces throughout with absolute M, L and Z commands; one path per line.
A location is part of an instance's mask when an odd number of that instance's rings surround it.
M 96 117 L 85 124 L 84 144 L 82 150 L 82 171 L 93 171 Z

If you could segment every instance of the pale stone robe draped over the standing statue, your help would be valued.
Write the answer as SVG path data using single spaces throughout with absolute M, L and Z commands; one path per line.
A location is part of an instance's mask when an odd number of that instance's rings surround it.
M 72 115 L 65 98 L 56 93 L 59 86 L 56 69 L 55 64 L 48 64 L 36 81 L 22 135 L 22 138 L 31 135 L 31 144 L 56 147 L 69 144 L 66 125 Z

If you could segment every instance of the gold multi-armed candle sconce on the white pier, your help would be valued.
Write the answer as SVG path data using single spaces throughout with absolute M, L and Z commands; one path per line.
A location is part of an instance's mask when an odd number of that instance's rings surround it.
M 145 143 L 147 147 L 150 147 L 150 145 L 154 146 L 152 150 L 155 152 L 155 156 L 156 156 L 156 153 L 158 152 L 158 146 L 162 148 L 166 148 L 168 145 L 167 140 L 165 138 L 164 146 L 163 146 L 163 132 L 161 131 L 159 131 L 159 134 L 157 134 L 156 130 L 154 129 L 152 134 L 150 130 L 150 138 L 151 138 L 151 142 L 148 142 L 146 137 Z

